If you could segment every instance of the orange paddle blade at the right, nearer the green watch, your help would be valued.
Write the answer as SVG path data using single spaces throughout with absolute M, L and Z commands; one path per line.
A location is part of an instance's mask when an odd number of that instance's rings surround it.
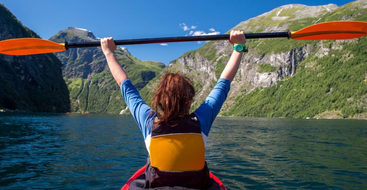
M 367 22 L 361 21 L 333 21 L 314 24 L 291 32 L 292 39 L 351 39 L 367 35 Z

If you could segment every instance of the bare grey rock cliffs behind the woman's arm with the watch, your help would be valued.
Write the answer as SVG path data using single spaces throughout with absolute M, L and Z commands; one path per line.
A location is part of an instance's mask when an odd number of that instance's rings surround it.
M 232 52 L 228 51 L 232 49 L 228 42 L 208 42 L 208 45 L 215 46 L 217 50 L 215 58 L 211 61 L 198 52 L 191 52 L 172 61 L 166 69 L 167 71 L 181 71 L 193 80 L 197 91 L 193 107 L 198 106 L 206 98 L 215 81 L 219 79 Z M 202 48 L 206 48 L 206 46 L 204 45 Z M 289 52 L 247 54 L 241 60 L 239 71 L 232 82 L 229 97 L 233 98 L 238 94 L 251 92 L 255 88 L 271 87 L 276 84 L 276 81 L 294 75 L 297 65 L 315 50 L 314 46 L 306 44 Z M 264 65 L 270 66 L 272 70 L 262 71 L 261 66 Z M 228 103 L 224 104 L 224 109 L 233 103 L 230 98 Z

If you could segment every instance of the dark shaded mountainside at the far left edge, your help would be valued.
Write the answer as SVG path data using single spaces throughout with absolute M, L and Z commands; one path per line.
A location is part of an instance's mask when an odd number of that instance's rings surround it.
M 0 40 L 13 38 L 40 37 L 0 4 Z M 63 113 L 70 110 L 61 62 L 53 54 L 0 54 L 0 81 L 0 109 Z

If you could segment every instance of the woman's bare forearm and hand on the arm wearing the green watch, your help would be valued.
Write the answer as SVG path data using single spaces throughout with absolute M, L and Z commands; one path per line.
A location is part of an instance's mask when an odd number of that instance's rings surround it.
M 229 42 L 232 44 L 245 44 L 246 39 L 243 31 L 230 31 Z M 235 78 L 238 67 L 240 66 L 242 54 L 243 52 L 237 52 L 236 50 L 233 50 L 232 56 L 230 57 L 228 64 L 224 68 L 221 78 L 228 79 L 229 81 L 232 81 Z

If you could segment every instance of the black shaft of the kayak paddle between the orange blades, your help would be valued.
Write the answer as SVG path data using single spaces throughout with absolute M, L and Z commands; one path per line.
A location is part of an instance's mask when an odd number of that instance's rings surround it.
M 274 33 L 250 33 L 245 34 L 246 39 L 255 38 L 290 38 L 290 31 L 274 32 Z M 183 36 L 183 37 L 168 37 L 168 38 L 143 38 L 143 39 L 123 39 L 115 40 L 116 45 L 132 45 L 145 43 L 168 43 L 168 42 L 192 42 L 192 41 L 211 41 L 211 40 L 226 40 L 229 39 L 229 34 L 222 35 L 202 35 L 202 36 Z M 96 42 L 65 42 L 65 49 L 75 47 L 98 47 L 101 46 L 100 41 Z

